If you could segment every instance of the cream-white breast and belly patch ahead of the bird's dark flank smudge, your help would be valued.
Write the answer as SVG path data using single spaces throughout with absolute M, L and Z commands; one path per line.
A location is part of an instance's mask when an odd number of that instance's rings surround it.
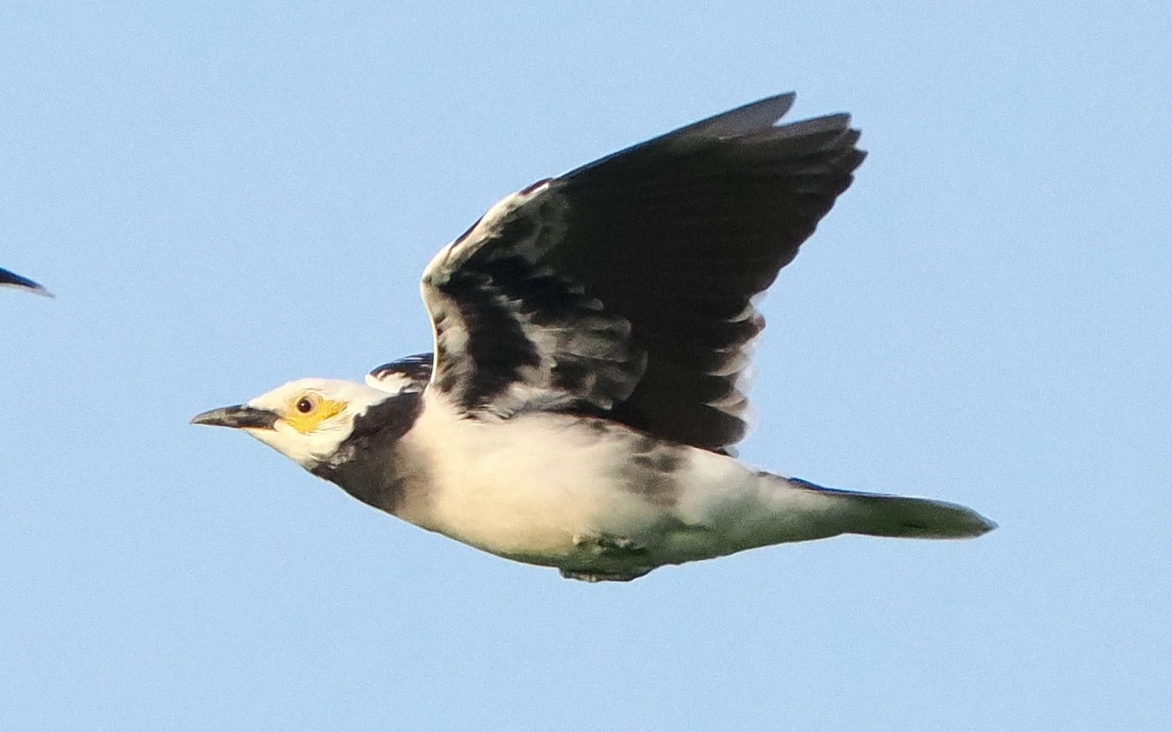
M 622 440 L 561 415 L 477 422 L 424 410 L 404 439 L 415 437 L 432 446 L 432 472 L 400 515 L 495 554 L 557 563 L 586 536 L 643 536 L 666 518 L 618 479 Z

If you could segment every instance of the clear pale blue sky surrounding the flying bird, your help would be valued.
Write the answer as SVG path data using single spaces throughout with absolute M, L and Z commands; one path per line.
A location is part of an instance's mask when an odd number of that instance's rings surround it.
M 5 730 L 1172 728 L 1172 14 L 1151 2 L 6 4 Z M 750 463 L 929 495 L 590 586 L 188 424 L 430 348 L 502 196 L 796 89 L 858 179 Z M 669 303 L 665 303 L 669 307 Z

